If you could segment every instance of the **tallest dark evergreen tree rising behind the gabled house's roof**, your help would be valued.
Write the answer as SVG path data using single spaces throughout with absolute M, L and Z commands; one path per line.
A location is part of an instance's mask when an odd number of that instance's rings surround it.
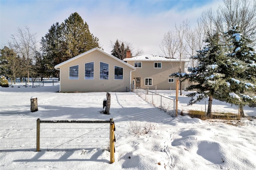
M 76 12 L 61 24 L 53 24 L 40 43 L 45 66 L 52 76 L 59 76 L 54 68 L 56 64 L 99 47 L 98 38 L 90 33 L 88 24 Z

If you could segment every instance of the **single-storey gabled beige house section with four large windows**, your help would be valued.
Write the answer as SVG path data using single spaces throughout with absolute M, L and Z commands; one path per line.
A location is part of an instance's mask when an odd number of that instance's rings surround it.
M 60 92 L 126 92 L 134 66 L 94 48 L 56 66 Z

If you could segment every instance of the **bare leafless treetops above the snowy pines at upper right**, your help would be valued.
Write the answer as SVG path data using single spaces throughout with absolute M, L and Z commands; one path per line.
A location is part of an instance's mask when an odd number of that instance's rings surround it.
M 238 31 L 252 40 L 256 45 L 256 0 L 223 0 L 216 12 L 211 8 L 202 12 L 200 20 L 204 25 L 204 32 L 213 35 L 225 32 L 238 26 Z

